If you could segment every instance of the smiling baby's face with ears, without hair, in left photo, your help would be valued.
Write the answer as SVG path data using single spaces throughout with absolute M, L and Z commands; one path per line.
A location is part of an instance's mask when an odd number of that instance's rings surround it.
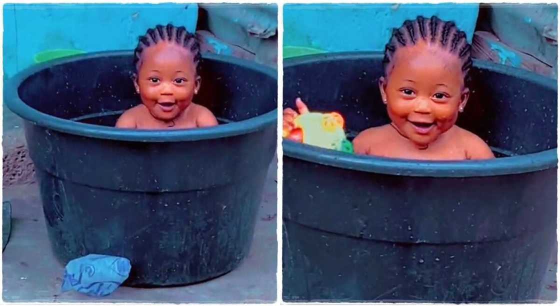
M 200 77 L 189 50 L 160 41 L 142 52 L 142 63 L 134 83 L 152 116 L 169 121 L 192 102 L 200 86 Z

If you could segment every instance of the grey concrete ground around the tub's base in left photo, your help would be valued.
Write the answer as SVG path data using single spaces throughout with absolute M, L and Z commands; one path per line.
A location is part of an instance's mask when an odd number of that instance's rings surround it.
M 6 116 L 7 115 L 7 116 Z M 4 108 L 4 151 L 21 142 L 21 122 Z M 95 298 L 76 291 L 60 292 L 64 266 L 54 257 L 46 234 L 38 184 L 4 186 L 3 201 L 12 205 L 12 231 L 4 249 L 4 302 L 164 302 L 273 303 L 276 300 L 276 158 L 270 164 L 255 234 L 248 257 L 217 279 L 173 288 L 119 287 Z

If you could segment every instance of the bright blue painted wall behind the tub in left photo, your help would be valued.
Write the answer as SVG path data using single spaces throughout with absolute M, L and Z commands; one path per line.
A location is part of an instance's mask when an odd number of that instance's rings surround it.
M 139 35 L 157 24 L 194 31 L 198 5 L 4 4 L 4 78 L 34 64 L 49 49 L 85 52 L 136 48 Z

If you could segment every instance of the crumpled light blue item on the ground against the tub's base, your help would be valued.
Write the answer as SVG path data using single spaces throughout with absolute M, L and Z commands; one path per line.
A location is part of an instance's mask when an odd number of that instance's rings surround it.
M 130 261 L 127 258 L 89 254 L 68 262 L 62 292 L 73 289 L 87 295 L 109 295 L 128 278 L 128 273 Z

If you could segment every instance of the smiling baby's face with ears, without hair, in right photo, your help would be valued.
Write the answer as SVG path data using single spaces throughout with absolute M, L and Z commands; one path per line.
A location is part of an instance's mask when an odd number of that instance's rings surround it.
M 426 146 L 454 126 L 466 104 L 461 62 L 456 55 L 419 41 L 400 47 L 388 79 L 380 82 L 387 112 L 399 131 Z

